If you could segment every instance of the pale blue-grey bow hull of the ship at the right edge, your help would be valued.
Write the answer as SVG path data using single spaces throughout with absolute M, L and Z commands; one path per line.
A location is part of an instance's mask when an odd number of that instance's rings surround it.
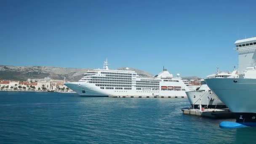
M 256 79 L 212 78 L 205 82 L 235 113 L 237 123 L 256 126 Z

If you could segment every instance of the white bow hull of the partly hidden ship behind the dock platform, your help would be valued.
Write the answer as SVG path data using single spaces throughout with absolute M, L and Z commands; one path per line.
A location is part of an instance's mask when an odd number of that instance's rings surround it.
M 189 103 L 195 109 L 198 109 L 200 104 L 202 107 L 210 109 L 227 108 L 227 106 L 211 91 L 187 91 L 186 94 Z

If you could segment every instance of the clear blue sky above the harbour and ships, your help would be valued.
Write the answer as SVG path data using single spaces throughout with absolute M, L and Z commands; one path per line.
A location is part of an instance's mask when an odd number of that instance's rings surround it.
M 0 0 L 0 64 L 205 77 L 256 37 L 255 0 Z

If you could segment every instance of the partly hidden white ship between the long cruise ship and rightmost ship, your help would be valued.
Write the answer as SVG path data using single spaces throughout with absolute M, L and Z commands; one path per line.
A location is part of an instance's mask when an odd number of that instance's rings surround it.
M 233 72 L 219 72 L 219 67 L 217 67 L 217 74 L 208 75 L 207 78 L 237 78 L 237 70 L 234 69 Z M 195 109 L 199 108 L 201 105 L 204 108 L 227 108 L 227 106 L 216 96 L 215 93 L 206 85 L 204 80 L 201 80 L 201 87 L 198 91 L 186 91 L 189 103 Z

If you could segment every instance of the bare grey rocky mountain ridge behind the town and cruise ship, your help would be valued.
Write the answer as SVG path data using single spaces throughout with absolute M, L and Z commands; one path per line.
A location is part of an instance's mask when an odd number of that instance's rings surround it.
M 41 66 L 5 66 L 0 65 L 0 79 L 2 80 L 27 80 L 28 78 L 44 78 L 51 77 L 52 79 L 64 80 L 74 82 L 83 77 L 83 74 L 91 69 L 77 69 L 77 68 L 63 68 L 63 67 L 41 67 Z M 125 67 L 118 68 L 118 70 L 125 70 Z M 142 77 L 153 76 L 148 72 L 139 69 L 130 68 Z

